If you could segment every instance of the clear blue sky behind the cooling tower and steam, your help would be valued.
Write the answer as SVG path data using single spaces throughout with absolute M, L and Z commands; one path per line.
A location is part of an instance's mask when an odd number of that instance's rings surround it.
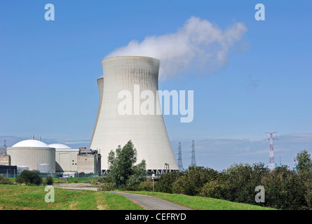
M 55 20 L 46 21 L 46 3 Z M 255 20 L 263 3 L 266 20 Z M 278 132 L 276 162 L 292 167 L 312 152 L 311 1 L 0 1 L 0 144 L 32 134 L 46 143 L 86 146 L 97 116 L 103 57 L 130 41 L 175 33 L 192 16 L 247 31 L 226 64 L 209 75 L 189 69 L 159 83 L 194 90 L 194 120 L 164 116 L 172 148 L 191 140 L 198 165 L 269 161 L 265 132 Z

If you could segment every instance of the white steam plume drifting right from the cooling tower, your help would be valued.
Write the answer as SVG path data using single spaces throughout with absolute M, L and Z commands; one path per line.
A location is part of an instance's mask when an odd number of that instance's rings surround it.
M 247 31 L 240 22 L 222 31 L 208 20 L 191 17 L 174 34 L 147 36 L 142 42 L 130 41 L 107 57 L 147 56 L 161 60 L 159 79 L 174 77 L 186 69 L 212 70 L 226 64 L 229 48 Z

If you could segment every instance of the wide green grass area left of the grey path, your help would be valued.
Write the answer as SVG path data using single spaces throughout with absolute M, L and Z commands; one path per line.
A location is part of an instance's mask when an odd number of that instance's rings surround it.
M 55 202 L 45 202 L 44 186 L 0 185 L 0 210 L 141 210 L 128 198 L 91 190 L 54 188 Z

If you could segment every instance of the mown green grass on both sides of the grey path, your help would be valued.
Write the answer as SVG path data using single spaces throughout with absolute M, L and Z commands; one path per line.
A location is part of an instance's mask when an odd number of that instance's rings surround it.
M 0 185 L 0 210 L 142 210 L 121 195 L 92 190 L 54 188 L 55 202 L 45 202 L 44 186 Z M 128 192 L 160 197 L 196 210 L 267 210 L 271 208 L 208 197 L 151 192 Z

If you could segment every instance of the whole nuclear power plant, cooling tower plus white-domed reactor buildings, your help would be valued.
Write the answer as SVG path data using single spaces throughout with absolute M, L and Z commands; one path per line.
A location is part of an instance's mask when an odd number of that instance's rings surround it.
M 100 102 L 90 148 L 48 145 L 32 136 L 6 148 L 0 166 L 8 172 L 11 165 L 14 174 L 23 169 L 66 176 L 108 174 L 110 151 L 131 140 L 137 163 L 145 160 L 146 172 L 179 172 L 161 113 L 159 66 L 160 61 L 152 57 L 102 59 L 103 76 L 97 79 Z

